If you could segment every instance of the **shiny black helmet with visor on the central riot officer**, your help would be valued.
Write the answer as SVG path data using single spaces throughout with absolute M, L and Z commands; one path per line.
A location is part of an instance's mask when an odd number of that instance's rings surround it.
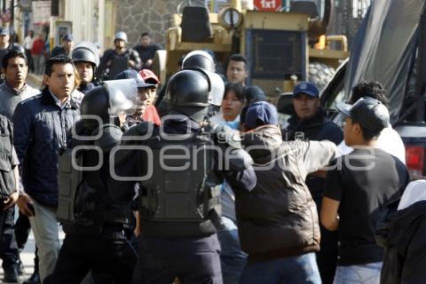
M 199 122 L 207 116 L 208 106 L 221 105 L 224 89 L 224 82 L 216 73 L 200 68 L 184 69 L 168 81 L 165 101 L 171 110 Z

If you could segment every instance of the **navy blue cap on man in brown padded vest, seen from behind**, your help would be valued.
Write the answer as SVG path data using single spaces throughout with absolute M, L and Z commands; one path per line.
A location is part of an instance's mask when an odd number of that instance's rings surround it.
M 266 101 L 254 102 L 247 108 L 245 124 L 249 129 L 254 129 L 261 125 L 277 125 L 277 109 L 273 104 Z

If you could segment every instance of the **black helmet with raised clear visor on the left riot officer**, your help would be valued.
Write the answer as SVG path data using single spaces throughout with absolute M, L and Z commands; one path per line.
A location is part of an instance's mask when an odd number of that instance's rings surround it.
M 122 112 L 132 113 L 137 95 L 134 79 L 104 81 L 82 99 L 80 112 L 84 126 L 95 129 L 111 123 Z

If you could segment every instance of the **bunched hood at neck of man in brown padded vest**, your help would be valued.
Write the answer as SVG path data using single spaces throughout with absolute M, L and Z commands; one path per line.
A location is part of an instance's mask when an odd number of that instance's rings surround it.
M 275 125 L 263 125 L 244 133 L 242 144 L 253 159 L 270 156 L 283 144 L 281 130 Z

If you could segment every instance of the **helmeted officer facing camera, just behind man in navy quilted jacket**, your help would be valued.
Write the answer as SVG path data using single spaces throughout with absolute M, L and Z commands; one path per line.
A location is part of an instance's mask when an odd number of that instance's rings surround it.
M 99 85 L 95 72 L 99 66 L 99 52 L 94 43 L 83 41 L 73 49 L 71 58 L 78 74 L 80 75 L 80 86 L 78 90 L 83 94 Z

